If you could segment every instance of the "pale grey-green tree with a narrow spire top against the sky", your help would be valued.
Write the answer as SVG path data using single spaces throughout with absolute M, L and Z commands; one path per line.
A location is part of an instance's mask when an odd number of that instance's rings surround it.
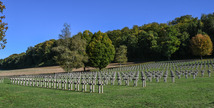
M 81 39 L 80 35 L 70 38 L 70 25 L 64 24 L 62 34 L 57 47 L 53 51 L 57 53 L 55 59 L 57 63 L 66 71 L 71 72 L 73 68 L 84 66 L 87 60 L 86 56 L 86 40 Z

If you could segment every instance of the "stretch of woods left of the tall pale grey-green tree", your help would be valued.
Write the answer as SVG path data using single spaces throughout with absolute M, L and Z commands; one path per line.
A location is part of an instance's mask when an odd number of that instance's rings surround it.
M 57 41 L 52 39 L 39 43 L 34 47 L 29 47 L 25 53 L 13 54 L 1 60 L 1 69 L 17 69 L 38 66 L 56 65 L 55 53 L 52 48 L 56 46 Z

